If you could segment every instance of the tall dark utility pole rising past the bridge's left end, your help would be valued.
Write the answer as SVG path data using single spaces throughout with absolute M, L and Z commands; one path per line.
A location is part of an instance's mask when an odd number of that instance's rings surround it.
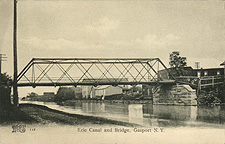
M 14 21 L 13 21 L 13 58 L 14 58 L 14 76 L 13 76 L 13 104 L 18 106 L 18 88 L 17 88 L 17 0 L 14 0 Z

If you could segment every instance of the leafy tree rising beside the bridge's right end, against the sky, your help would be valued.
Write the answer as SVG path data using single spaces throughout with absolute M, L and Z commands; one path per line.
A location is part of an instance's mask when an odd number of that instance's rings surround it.
M 190 73 L 189 71 L 184 69 L 184 67 L 187 66 L 187 58 L 181 57 L 180 52 L 173 51 L 172 53 L 170 53 L 169 60 L 169 64 L 171 67 L 170 73 L 172 73 L 172 75 L 183 76 Z

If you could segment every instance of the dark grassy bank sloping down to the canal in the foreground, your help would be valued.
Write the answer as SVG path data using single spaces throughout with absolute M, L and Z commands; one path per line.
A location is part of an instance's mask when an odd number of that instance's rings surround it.
M 69 114 L 35 104 L 21 104 L 18 109 L 0 110 L 0 124 L 63 124 L 63 125 L 121 125 L 137 126 L 106 118 Z

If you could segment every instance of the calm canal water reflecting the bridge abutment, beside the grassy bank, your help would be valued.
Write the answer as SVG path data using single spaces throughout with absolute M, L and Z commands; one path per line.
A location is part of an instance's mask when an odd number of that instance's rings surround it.
M 34 103 L 72 114 L 104 117 L 154 127 L 225 128 L 224 106 L 174 106 L 74 101 L 66 106 L 53 102 Z

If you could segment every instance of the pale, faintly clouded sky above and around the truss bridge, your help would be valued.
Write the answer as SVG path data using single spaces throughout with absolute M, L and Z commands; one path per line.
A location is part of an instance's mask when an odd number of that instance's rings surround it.
M 13 75 L 13 0 L 0 0 L 2 71 Z M 18 0 L 18 72 L 33 57 L 160 58 L 179 51 L 188 66 L 225 60 L 221 0 Z M 52 88 L 51 88 L 52 89 Z M 41 93 L 50 88 L 19 88 Z M 53 91 L 56 91 L 53 88 Z M 51 91 L 51 90 L 50 90 Z

